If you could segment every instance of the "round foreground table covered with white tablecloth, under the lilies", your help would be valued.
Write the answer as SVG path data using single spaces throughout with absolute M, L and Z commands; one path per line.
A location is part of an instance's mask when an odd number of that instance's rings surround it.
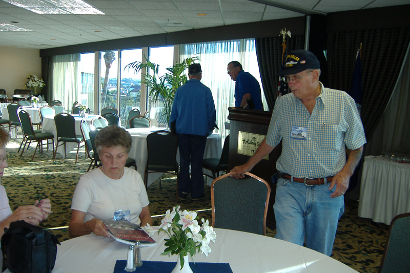
M 215 243 L 210 243 L 212 252 L 208 257 L 196 253 L 195 262 L 229 263 L 233 272 L 356 272 L 333 258 L 293 243 L 229 229 L 215 228 L 215 232 Z M 163 232 L 155 234 L 153 239 L 158 244 L 141 248 L 142 261 L 176 262 L 176 256 L 160 255 L 165 249 L 164 238 Z M 128 244 L 94 234 L 64 241 L 57 247 L 53 273 L 112 273 L 116 260 L 127 260 Z

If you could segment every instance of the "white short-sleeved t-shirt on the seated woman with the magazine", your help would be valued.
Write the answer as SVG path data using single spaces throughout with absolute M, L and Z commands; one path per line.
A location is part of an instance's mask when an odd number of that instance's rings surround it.
M 141 175 L 124 168 L 120 179 L 111 179 L 100 168 L 80 177 L 75 187 L 71 209 L 85 212 L 84 222 L 93 218 L 113 220 L 114 212 L 130 211 L 131 223 L 140 224 L 142 207 L 149 204 Z

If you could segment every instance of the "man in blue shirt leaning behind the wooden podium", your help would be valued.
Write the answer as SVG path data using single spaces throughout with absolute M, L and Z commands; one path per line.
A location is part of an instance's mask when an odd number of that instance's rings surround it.
M 233 60 L 228 64 L 228 74 L 235 81 L 235 107 L 245 107 L 247 99 L 252 98 L 253 103 L 249 107 L 255 110 L 263 110 L 262 96 L 259 82 L 249 72 L 244 72 L 239 61 Z

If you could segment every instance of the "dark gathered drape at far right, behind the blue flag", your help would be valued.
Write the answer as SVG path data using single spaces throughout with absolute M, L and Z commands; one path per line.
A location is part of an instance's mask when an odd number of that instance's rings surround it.
M 338 31 L 327 34 L 329 88 L 350 92 L 356 52 L 362 43 L 362 110 L 370 139 L 395 87 L 410 41 L 410 28 Z

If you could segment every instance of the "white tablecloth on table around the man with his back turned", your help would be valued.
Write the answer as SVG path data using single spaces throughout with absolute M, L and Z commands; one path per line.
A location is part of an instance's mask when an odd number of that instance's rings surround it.
M 137 162 L 138 172 L 144 177 L 145 166 L 147 165 L 148 151 L 147 151 L 147 136 L 152 132 L 165 130 L 165 128 L 132 128 L 127 129 L 132 137 L 132 147 L 129 153 L 131 158 Z M 222 153 L 221 136 L 218 133 L 213 133 L 207 139 L 205 152 L 203 158 L 217 158 Z M 179 154 L 177 154 L 179 160 Z M 161 173 L 148 174 L 148 186 L 152 184 L 161 176 Z M 207 183 L 212 183 L 212 179 L 208 179 Z

